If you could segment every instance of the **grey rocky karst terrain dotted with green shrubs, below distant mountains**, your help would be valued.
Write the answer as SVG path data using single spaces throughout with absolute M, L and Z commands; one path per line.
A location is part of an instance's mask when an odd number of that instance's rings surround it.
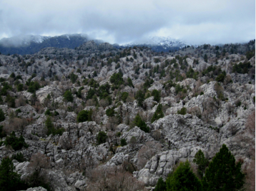
M 0 65 L 0 160 L 28 190 L 153 190 L 222 144 L 244 172 L 255 162 L 255 41 L 171 53 L 87 41 Z

